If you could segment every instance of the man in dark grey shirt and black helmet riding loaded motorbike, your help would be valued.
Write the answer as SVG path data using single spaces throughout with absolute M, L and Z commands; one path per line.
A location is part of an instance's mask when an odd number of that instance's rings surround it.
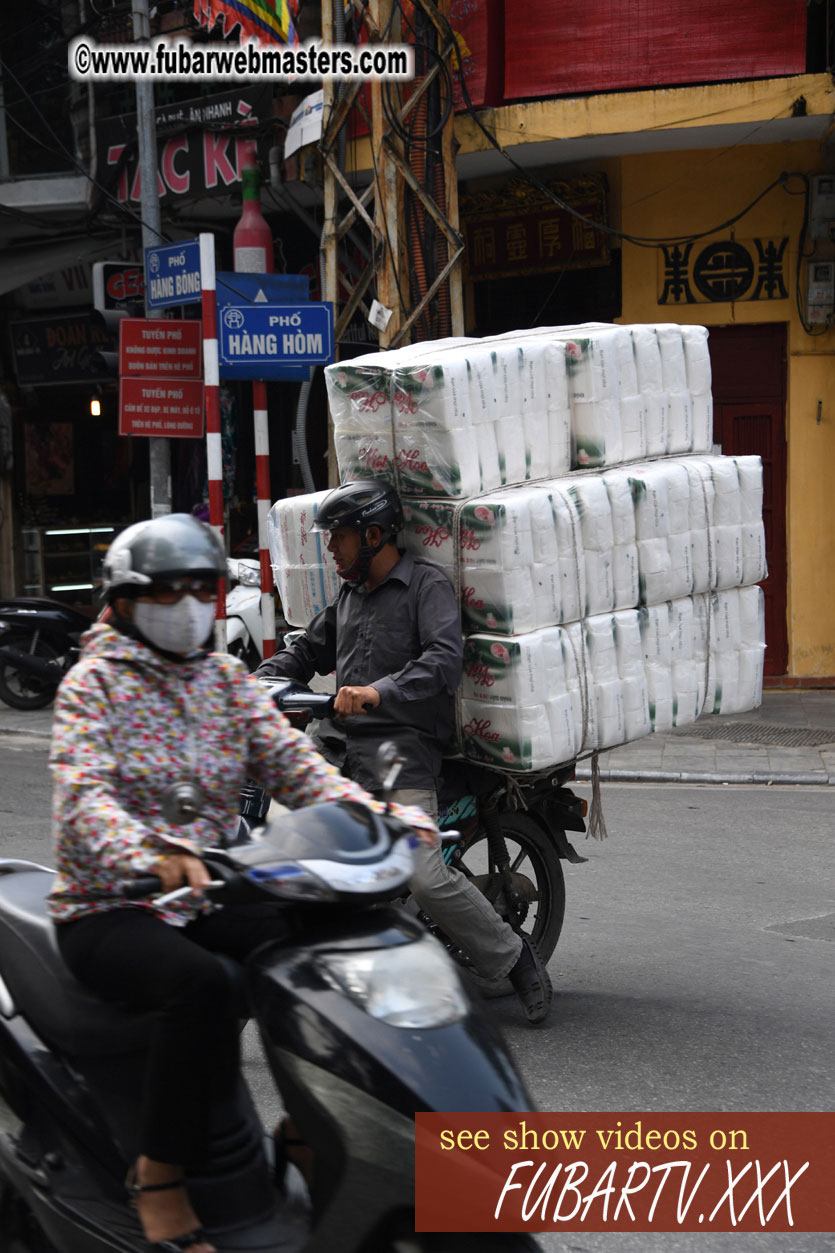
M 330 533 L 327 549 L 342 586 L 303 635 L 262 662 L 256 674 L 307 683 L 335 669 L 336 719 L 323 719 L 315 737 L 323 756 L 375 792 L 379 746 L 394 739 L 405 757 L 394 799 L 436 818 L 436 783 L 461 675 L 454 590 L 443 571 L 397 549 L 402 507 L 382 480 L 336 487 L 313 525 Z M 446 866 L 439 842 L 418 850 L 411 890 L 478 972 L 508 976 L 528 1020 L 542 1022 L 553 992 L 539 954 L 466 876 Z

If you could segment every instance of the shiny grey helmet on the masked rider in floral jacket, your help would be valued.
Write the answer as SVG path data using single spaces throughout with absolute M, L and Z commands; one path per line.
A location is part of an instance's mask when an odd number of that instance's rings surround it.
M 112 601 L 158 579 L 224 574 L 226 553 L 212 528 L 191 514 L 165 514 L 117 535 L 102 566 L 102 591 Z

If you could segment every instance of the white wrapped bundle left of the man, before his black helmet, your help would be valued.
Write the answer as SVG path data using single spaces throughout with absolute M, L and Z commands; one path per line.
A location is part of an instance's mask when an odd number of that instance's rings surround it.
M 339 591 L 326 535 L 313 519 L 326 491 L 278 500 L 267 515 L 267 543 L 281 608 L 291 626 L 306 626 Z

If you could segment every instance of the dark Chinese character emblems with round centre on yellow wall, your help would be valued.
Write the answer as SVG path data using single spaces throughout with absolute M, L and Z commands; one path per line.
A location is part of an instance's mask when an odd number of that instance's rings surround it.
M 785 301 L 782 239 L 695 239 L 658 249 L 658 303 Z

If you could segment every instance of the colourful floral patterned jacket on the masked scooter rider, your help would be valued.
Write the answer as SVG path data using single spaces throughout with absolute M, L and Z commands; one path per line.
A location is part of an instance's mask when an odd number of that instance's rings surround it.
M 183 926 L 207 901 L 155 908 L 117 895 L 119 880 L 148 873 L 160 855 L 199 852 L 232 837 L 247 777 L 295 809 L 340 798 L 371 801 L 295 730 L 241 662 L 211 653 L 169 662 L 139 640 L 97 623 L 63 680 L 50 767 L 58 875 L 48 906 L 56 922 L 113 908 L 149 908 Z M 188 827 L 162 813 L 165 789 L 191 778 L 204 792 Z M 435 831 L 420 809 L 395 812 Z

